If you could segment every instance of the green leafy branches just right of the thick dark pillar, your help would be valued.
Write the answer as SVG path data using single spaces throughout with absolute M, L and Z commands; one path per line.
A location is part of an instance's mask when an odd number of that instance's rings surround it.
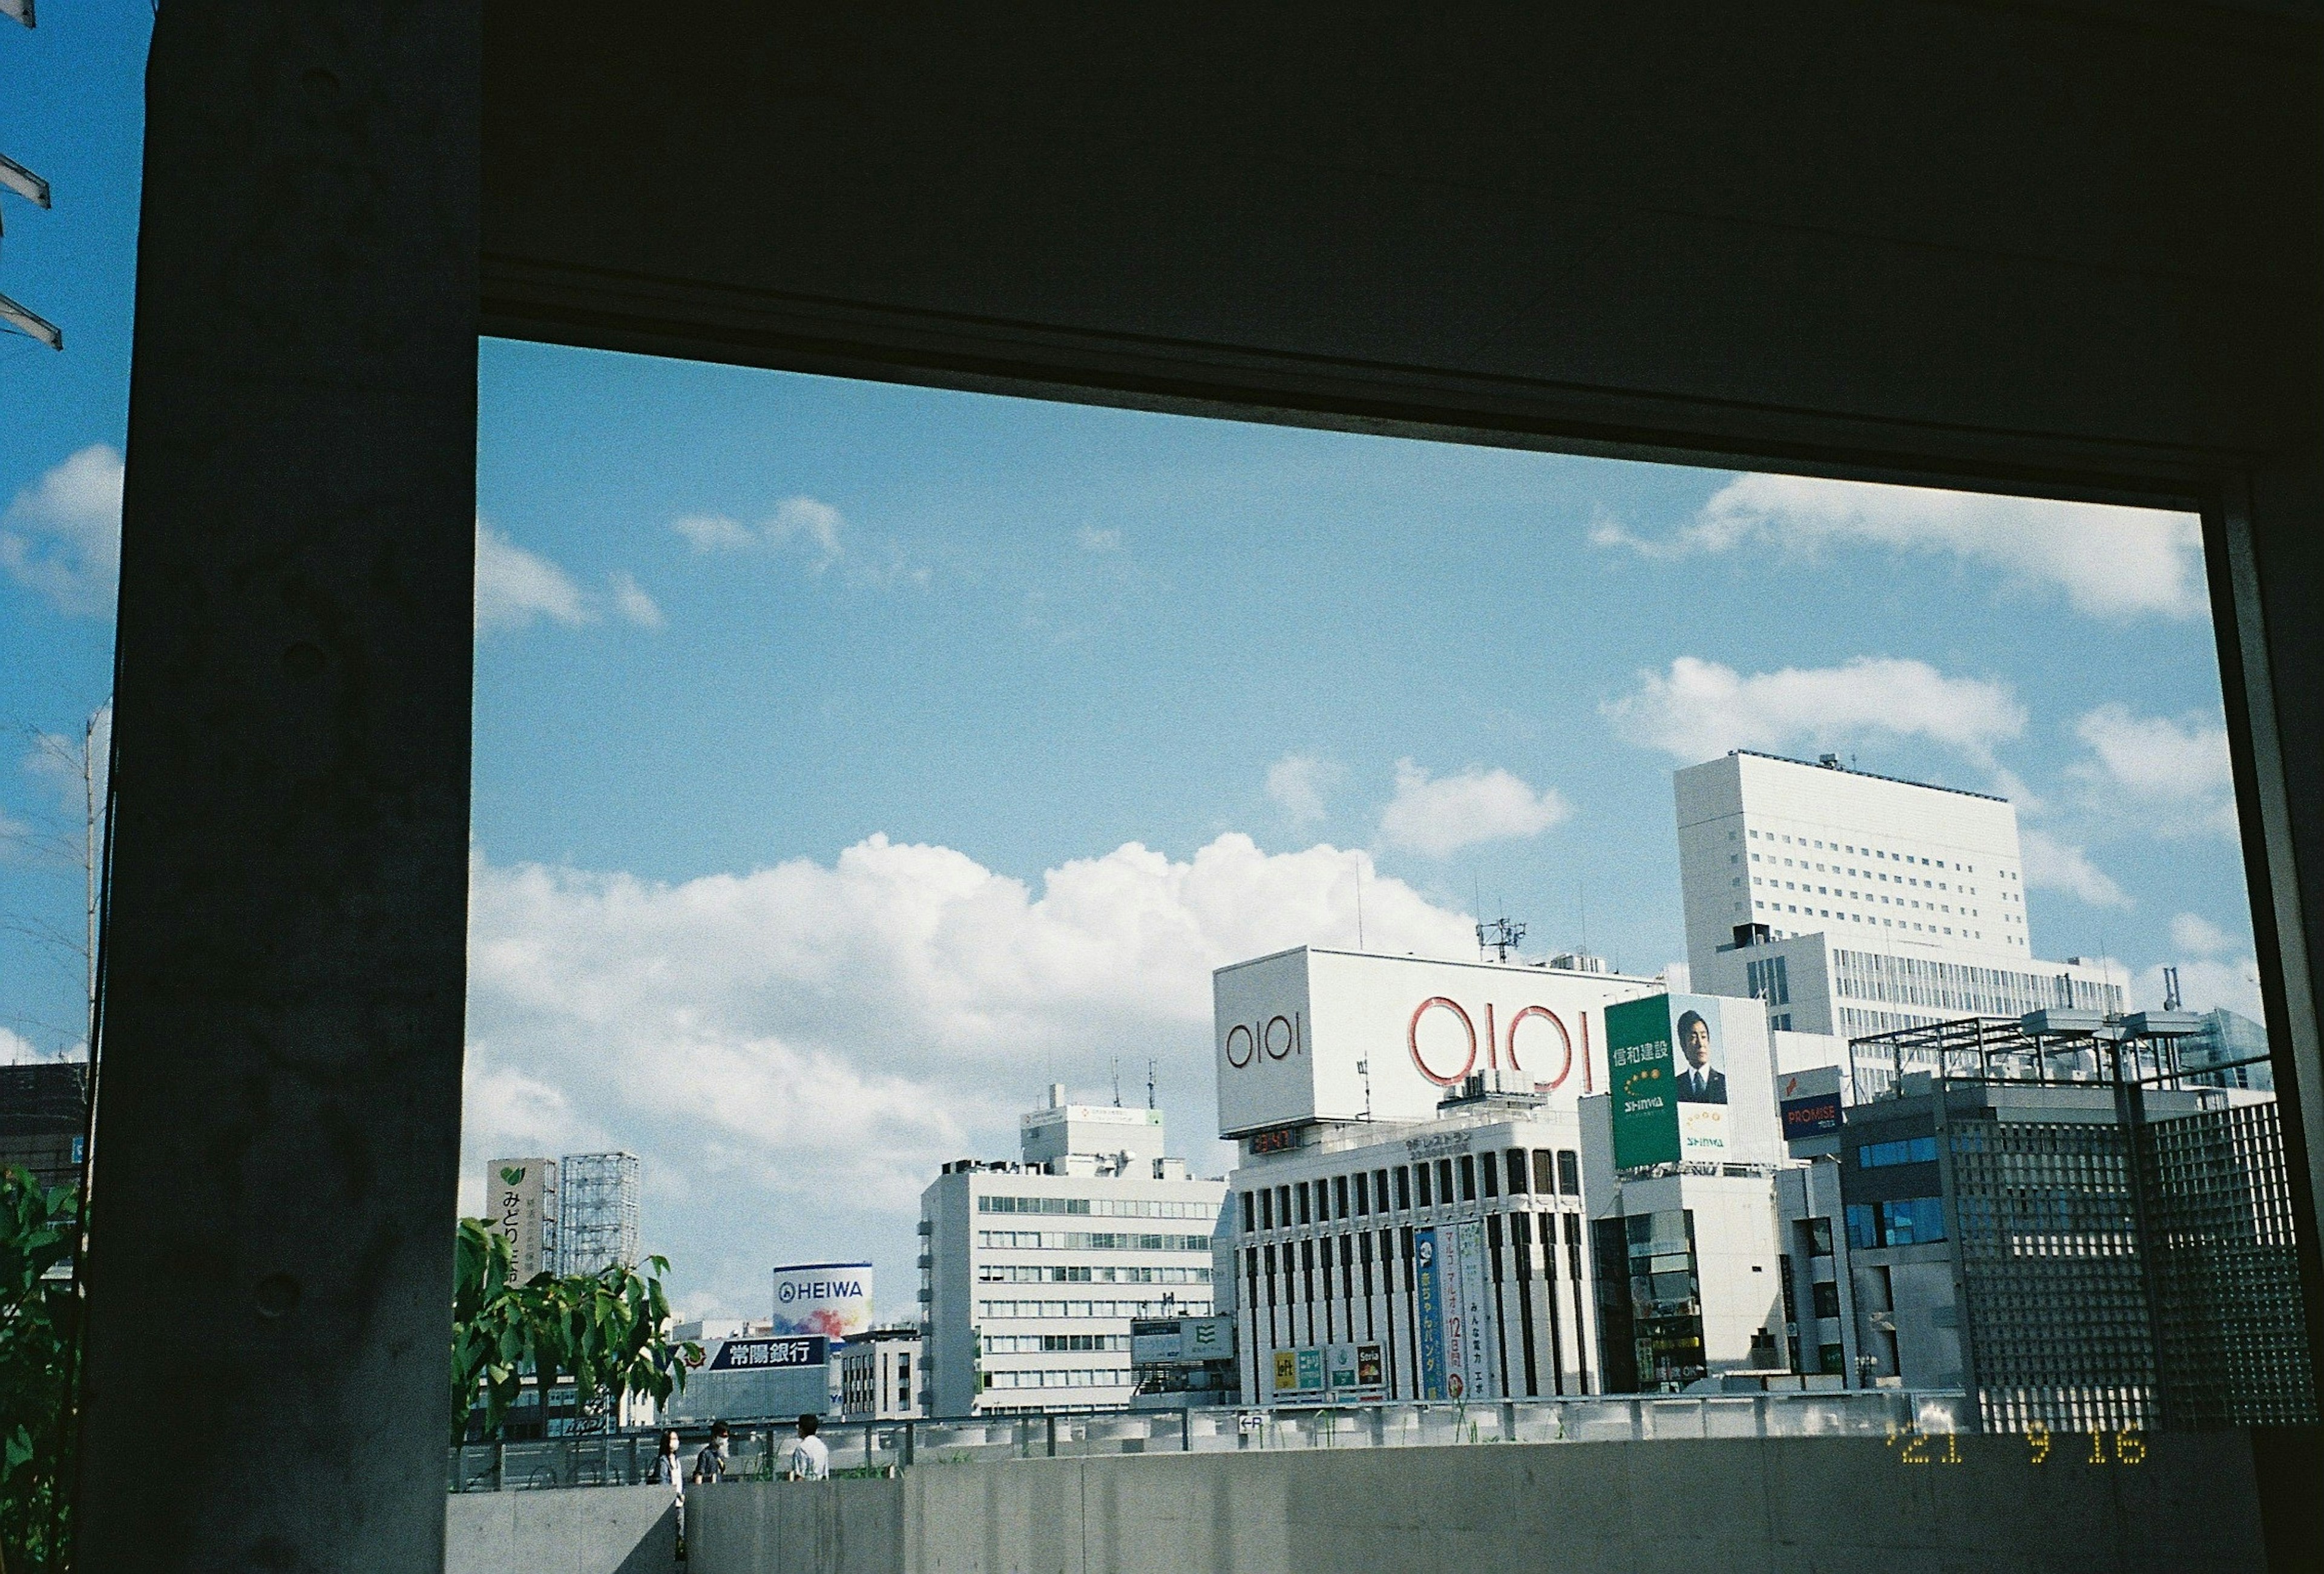
M 648 1272 L 611 1262 L 595 1274 L 511 1279 L 509 1242 L 483 1218 L 462 1218 L 453 1244 L 451 1439 L 467 1437 L 479 1395 L 483 1430 L 500 1432 L 530 1379 L 541 1414 L 558 1376 L 572 1376 L 583 1404 L 646 1395 L 655 1404 L 686 1386 L 700 1344 L 669 1342 L 665 1258 Z

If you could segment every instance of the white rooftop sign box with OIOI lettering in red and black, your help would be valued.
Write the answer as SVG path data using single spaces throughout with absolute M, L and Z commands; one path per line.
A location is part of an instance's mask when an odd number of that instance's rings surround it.
M 1606 1088 L 1606 1007 L 1655 979 L 1283 951 L 1211 974 L 1218 1130 L 1425 1121 L 1473 1072 L 1571 1109 Z

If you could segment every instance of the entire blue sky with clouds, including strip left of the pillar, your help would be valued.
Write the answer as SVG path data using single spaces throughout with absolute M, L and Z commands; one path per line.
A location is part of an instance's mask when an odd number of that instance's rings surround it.
M 149 14 L 0 28 L 0 818 L 109 681 Z M 91 91 L 95 84 L 98 91 Z M 2250 1009 L 2185 518 L 488 342 L 465 1174 L 630 1146 L 681 1304 L 858 1253 L 934 1165 L 1160 1063 L 1208 967 L 1459 951 L 1478 902 L 1683 953 L 1671 784 L 1729 746 L 2020 802 L 2043 956 Z M 109 514 L 112 509 L 112 514 Z M 77 874 L 0 853 L 0 1049 L 72 1044 Z M 474 1197 L 469 1197 L 474 1204 Z

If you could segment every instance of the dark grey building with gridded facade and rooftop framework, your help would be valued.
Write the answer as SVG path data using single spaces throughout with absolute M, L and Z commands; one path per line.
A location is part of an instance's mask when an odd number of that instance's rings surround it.
M 2145 1023 L 2129 1063 L 2168 1067 Z M 1892 1035 L 1936 1072 L 1850 1104 L 1836 1160 L 1780 1193 L 1834 1279 L 1803 1353 L 1815 1330 L 1866 1386 L 1966 1388 L 1994 1430 L 2312 1418 L 2273 1097 L 2122 1086 L 2113 1039 L 2052 1025 Z

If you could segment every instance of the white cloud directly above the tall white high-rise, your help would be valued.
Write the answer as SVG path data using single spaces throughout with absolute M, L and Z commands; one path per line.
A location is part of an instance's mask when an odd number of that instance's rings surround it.
M 1992 765 L 1994 744 L 2027 725 L 2008 684 L 1945 677 L 1929 663 L 1885 656 L 1752 677 L 1680 656 L 1669 677 L 1641 672 L 1631 693 L 1599 711 L 1629 742 L 1687 765 L 1729 749 L 1829 749 L 1873 735 L 1927 737 Z

